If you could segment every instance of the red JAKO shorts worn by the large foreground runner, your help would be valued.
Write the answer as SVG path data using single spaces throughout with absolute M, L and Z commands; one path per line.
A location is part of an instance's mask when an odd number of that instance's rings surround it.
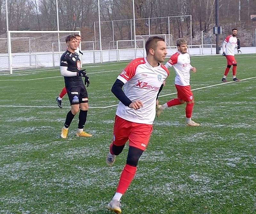
M 130 122 L 116 115 L 113 144 L 122 146 L 129 140 L 129 146 L 145 150 L 148 146 L 153 125 Z

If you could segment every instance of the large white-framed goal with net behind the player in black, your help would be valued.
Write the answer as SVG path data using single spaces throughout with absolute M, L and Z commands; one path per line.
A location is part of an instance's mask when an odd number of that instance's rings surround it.
M 7 48 L 8 48 L 8 66 L 10 74 L 13 68 L 28 68 L 29 66 L 54 67 L 59 64 L 60 43 L 65 41 L 65 38 L 70 34 L 79 34 L 80 31 L 7 31 Z M 34 38 L 29 40 L 29 48 L 14 48 L 22 38 Z M 12 39 L 11 39 L 12 38 Z M 57 42 L 58 52 L 52 52 L 52 43 Z M 26 44 L 27 47 L 27 44 Z M 81 44 L 79 45 L 81 48 Z M 15 50 L 14 50 L 15 49 Z M 80 57 L 81 58 L 81 57 Z M 82 62 L 82 59 L 81 59 Z M 1 65 L 4 67 L 3 65 Z

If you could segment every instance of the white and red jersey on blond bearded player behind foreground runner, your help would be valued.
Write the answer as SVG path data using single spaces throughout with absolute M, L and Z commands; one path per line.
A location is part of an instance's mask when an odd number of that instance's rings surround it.
M 190 56 L 188 53 L 182 54 L 180 51 L 173 54 L 165 64 L 166 68 L 172 67 L 176 73 L 175 85 L 190 85 Z

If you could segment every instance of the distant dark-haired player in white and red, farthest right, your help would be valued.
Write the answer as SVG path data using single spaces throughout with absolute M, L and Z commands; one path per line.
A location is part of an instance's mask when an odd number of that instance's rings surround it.
M 232 35 L 229 35 L 226 37 L 226 39 L 224 40 L 223 44 L 222 44 L 222 50 L 223 50 L 223 56 L 226 56 L 227 58 L 227 68 L 225 70 L 225 73 L 223 75 L 222 78 L 222 82 L 228 82 L 226 77 L 228 75 L 229 69 L 231 68 L 231 65 L 233 65 L 233 81 L 240 81 L 239 79 L 236 78 L 236 67 L 237 67 L 237 63 L 236 63 L 236 59 L 235 59 L 235 50 L 237 48 L 237 50 L 239 51 L 240 49 L 240 45 L 237 45 L 237 41 L 238 39 L 236 38 L 237 35 L 237 29 L 234 28 L 232 29 Z

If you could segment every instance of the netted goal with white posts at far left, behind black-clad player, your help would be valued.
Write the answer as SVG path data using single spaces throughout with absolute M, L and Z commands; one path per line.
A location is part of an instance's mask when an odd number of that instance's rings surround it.
M 7 42 L 1 47 L 1 69 L 9 68 L 12 73 L 15 68 L 59 66 L 60 56 L 67 48 L 63 42 L 70 34 L 80 31 L 8 31 L 8 37 L 2 38 Z M 56 51 L 53 43 L 57 44 Z

